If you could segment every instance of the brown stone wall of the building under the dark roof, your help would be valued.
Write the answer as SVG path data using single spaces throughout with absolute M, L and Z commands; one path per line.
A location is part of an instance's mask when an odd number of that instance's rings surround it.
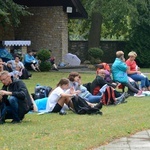
M 50 49 L 56 62 L 68 52 L 68 16 L 63 7 L 31 7 L 15 29 L 16 40 L 31 40 L 29 49 Z

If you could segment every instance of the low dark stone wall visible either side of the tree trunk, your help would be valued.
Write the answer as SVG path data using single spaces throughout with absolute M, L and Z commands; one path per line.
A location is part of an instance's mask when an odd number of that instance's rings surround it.
M 104 52 L 103 62 L 112 63 L 115 59 L 115 53 L 118 50 L 123 50 L 125 42 L 123 41 L 100 41 L 101 49 Z M 69 41 L 69 53 L 76 54 L 82 62 L 88 59 L 88 42 L 87 41 Z

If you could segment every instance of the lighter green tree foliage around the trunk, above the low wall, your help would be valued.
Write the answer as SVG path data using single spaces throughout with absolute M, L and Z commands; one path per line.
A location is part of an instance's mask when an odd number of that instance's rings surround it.
M 81 0 L 81 2 L 88 12 L 89 18 L 82 21 L 71 20 L 69 27 L 75 27 L 72 28 L 70 37 L 74 34 L 76 37 L 88 39 L 92 13 L 100 12 L 102 14 L 102 26 L 100 27 L 102 31 L 100 37 L 107 39 L 127 39 L 134 26 L 141 23 L 137 7 L 142 7 L 143 10 L 147 9 L 149 0 L 93 0 L 92 2 L 91 0 Z

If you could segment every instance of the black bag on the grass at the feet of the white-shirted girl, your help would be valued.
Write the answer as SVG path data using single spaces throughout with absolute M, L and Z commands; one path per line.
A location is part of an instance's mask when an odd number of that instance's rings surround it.
M 88 105 L 85 99 L 81 98 L 80 96 L 74 96 L 72 99 L 74 112 L 77 114 L 100 114 L 102 112 L 99 111 L 98 108 L 94 108 Z

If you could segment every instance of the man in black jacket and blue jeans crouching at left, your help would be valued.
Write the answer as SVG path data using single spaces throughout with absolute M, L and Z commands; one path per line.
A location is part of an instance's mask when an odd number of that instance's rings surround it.
M 0 105 L 5 106 L 0 110 L 0 124 L 6 119 L 21 123 L 25 114 L 33 108 L 28 89 L 22 80 L 11 77 L 8 71 L 0 73 L 0 81 L 3 84 Z

